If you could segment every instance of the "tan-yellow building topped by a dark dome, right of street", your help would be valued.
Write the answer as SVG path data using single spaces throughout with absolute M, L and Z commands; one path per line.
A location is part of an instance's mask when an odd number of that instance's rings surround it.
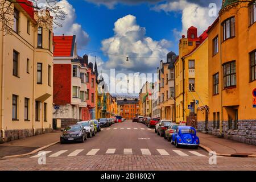
M 174 52 L 167 54 L 167 62 L 160 61 L 159 74 L 159 103 L 160 103 L 160 118 L 175 121 L 175 75 L 174 61 L 177 56 Z M 159 86 L 159 85 L 158 85 Z

